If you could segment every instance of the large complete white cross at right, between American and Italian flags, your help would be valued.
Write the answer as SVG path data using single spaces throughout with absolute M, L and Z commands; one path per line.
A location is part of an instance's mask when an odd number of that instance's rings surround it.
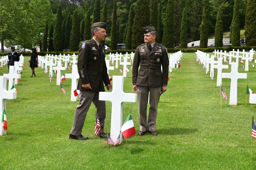
M 238 73 L 238 63 L 231 63 L 231 72 L 222 73 L 222 78 L 230 78 L 229 105 L 237 105 L 237 79 L 247 79 L 247 73 Z

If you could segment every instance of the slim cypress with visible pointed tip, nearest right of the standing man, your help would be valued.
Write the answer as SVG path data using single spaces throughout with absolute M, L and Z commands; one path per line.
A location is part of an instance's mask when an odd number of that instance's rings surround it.
M 184 8 L 182 12 L 182 20 L 181 20 L 181 27 L 180 27 L 180 48 L 188 48 L 186 8 Z

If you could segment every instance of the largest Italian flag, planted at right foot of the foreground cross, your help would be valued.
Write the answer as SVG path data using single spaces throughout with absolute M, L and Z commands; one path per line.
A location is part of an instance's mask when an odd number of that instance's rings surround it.
M 134 124 L 132 121 L 132 115 L 131 113 L 129 114 L 129 116 L 127 117 L 127 119 L 125 120 L 121 131 L 123 133 L 124 138 L 128 138 L 132 135 L 135 135 L 135 128 L 134 128 Z

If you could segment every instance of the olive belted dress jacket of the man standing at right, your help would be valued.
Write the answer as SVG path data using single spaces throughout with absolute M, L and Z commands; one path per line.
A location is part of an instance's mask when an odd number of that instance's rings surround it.
M 136 48 L 133 57 L 132 83 L 151 87 L 167 85 L 168 66 L 169 58 L 164 46 L 155 43 L 150 52 L 147 43 L 142 44 Z

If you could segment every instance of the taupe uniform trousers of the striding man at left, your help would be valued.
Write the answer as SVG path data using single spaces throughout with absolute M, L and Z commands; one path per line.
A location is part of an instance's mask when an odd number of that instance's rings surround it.
M 97 113 L 100 121 L 100 133 L 104 132 L 104 121 L 106 118 L 106 104 L 104 100 L 99 100 L 99 92 L 82 91 L 80 90 L 79 104 L 77 105 L 74 122 L 70 134 L 80 136 L 83 129 L 83 124 L 86 114 L 91 106 L 91 103 L 97 107 Z M 93 131 L 94 132 L 94 128 Z

